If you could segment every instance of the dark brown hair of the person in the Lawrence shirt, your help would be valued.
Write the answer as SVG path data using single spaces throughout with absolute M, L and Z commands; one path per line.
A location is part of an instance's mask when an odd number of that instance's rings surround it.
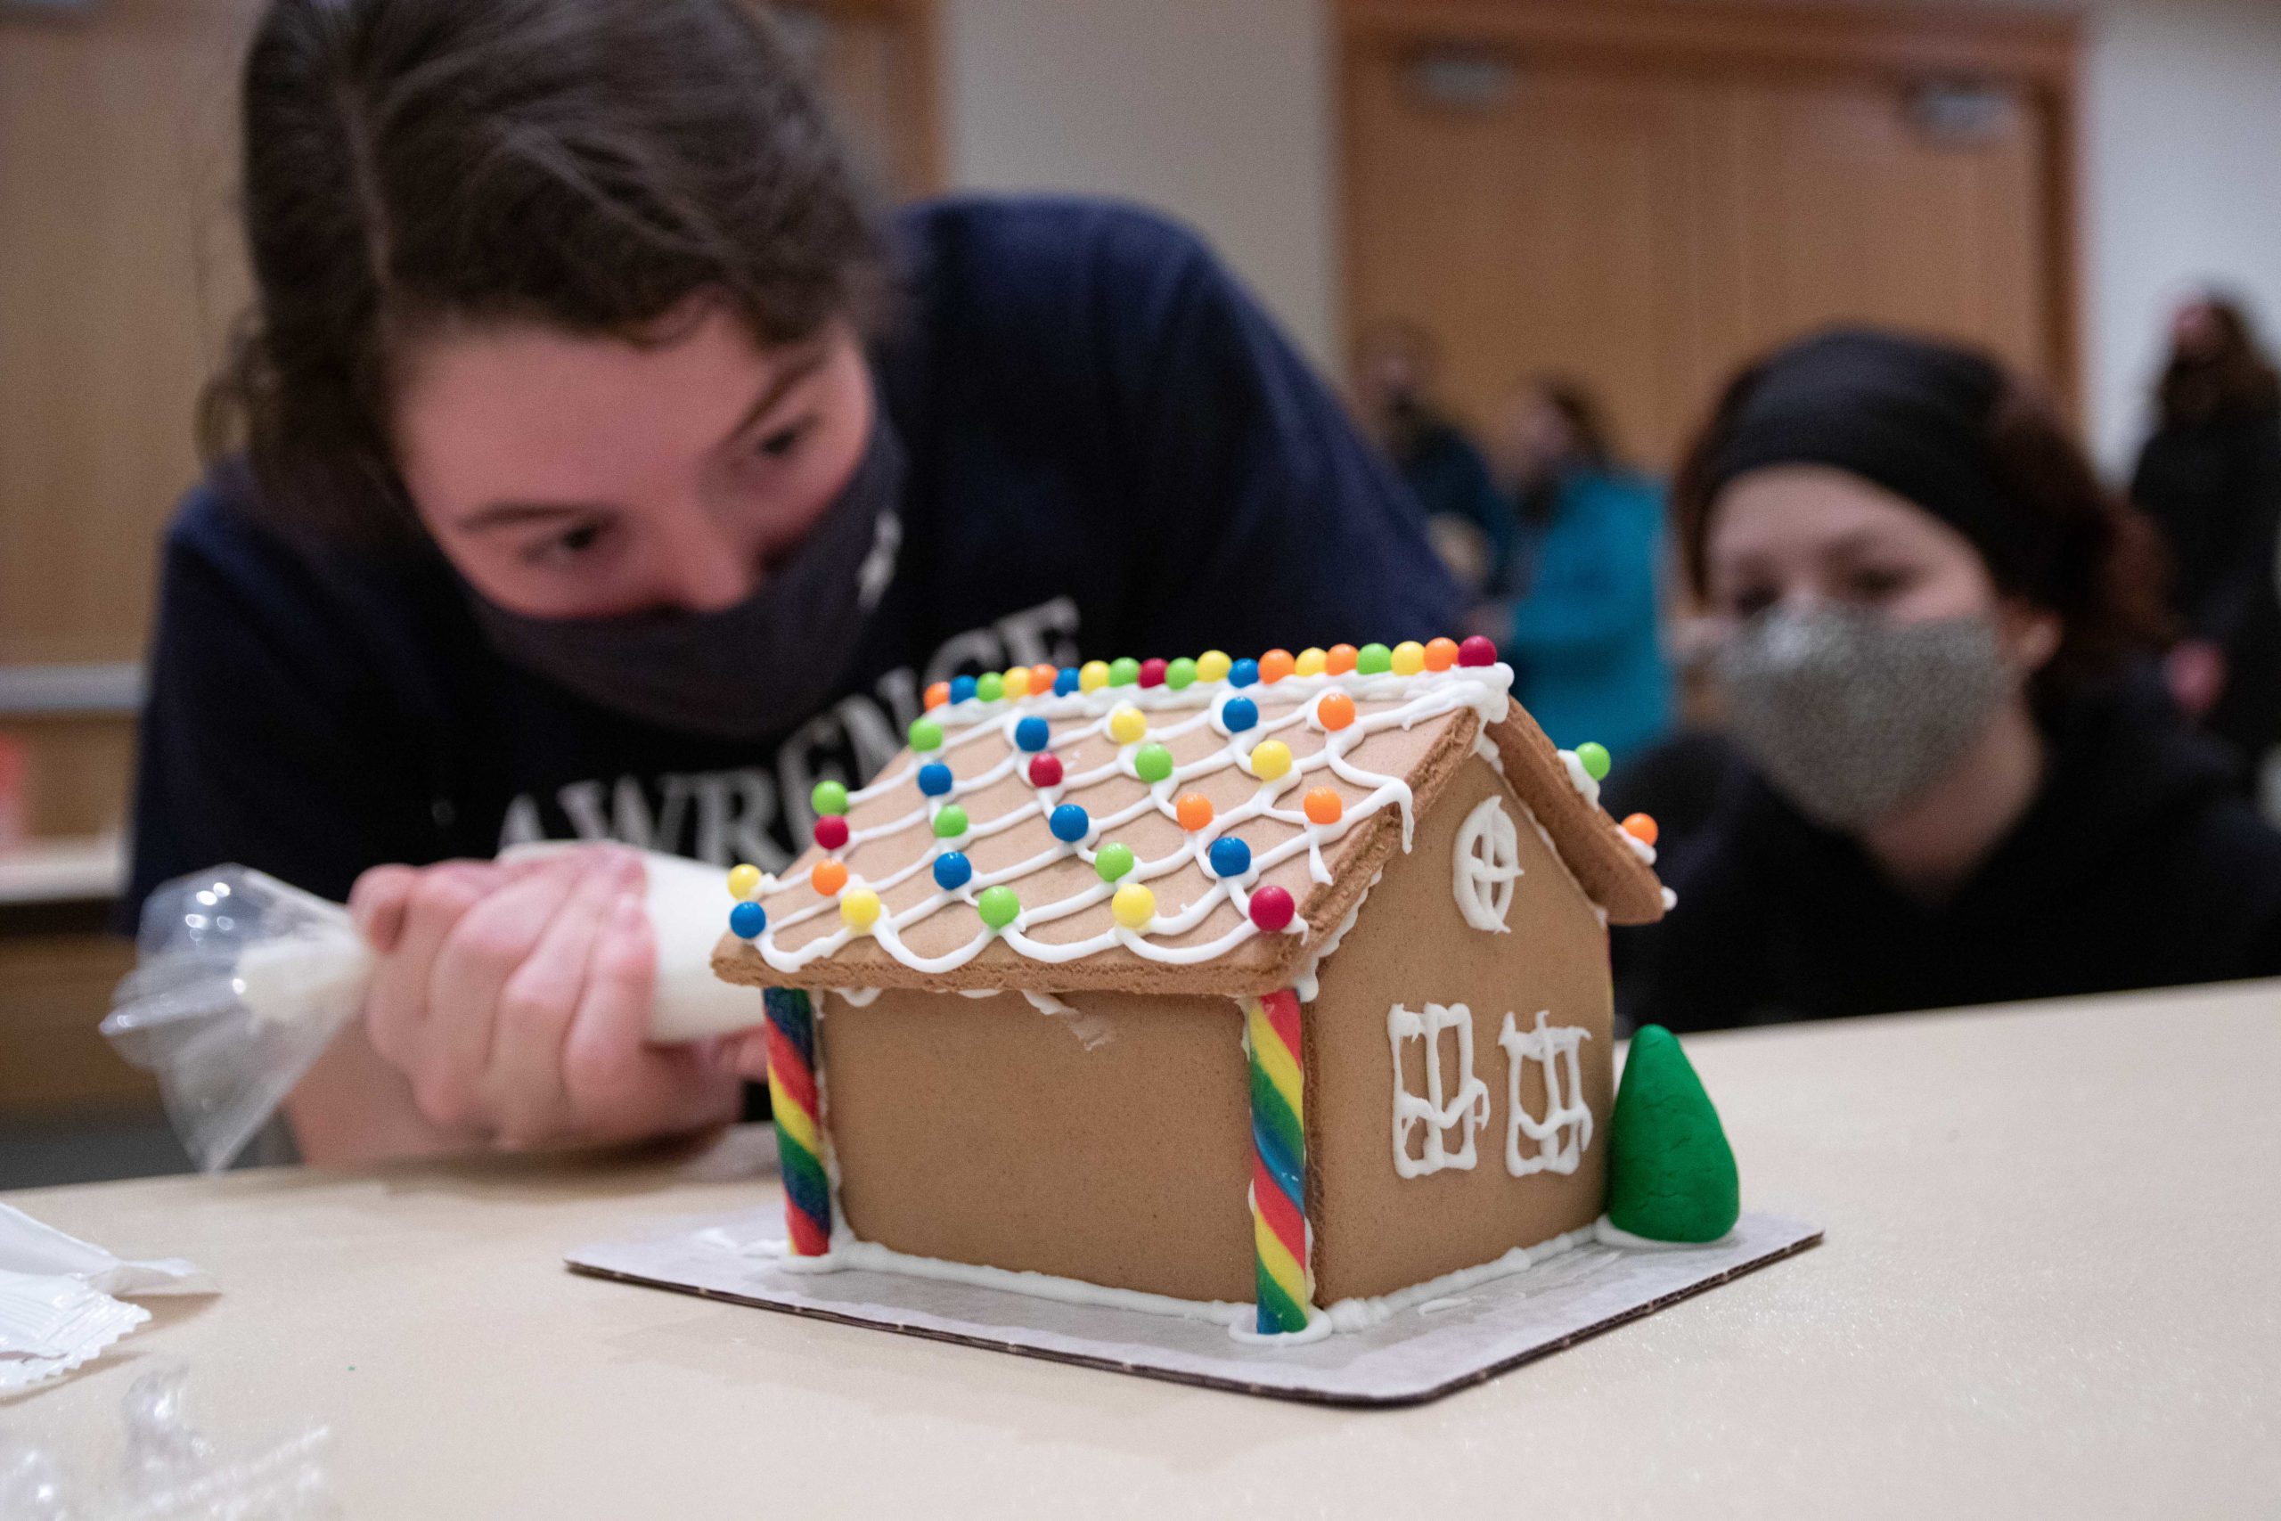
M 390 385 L 438 324 L 657 342 L 709 294 L 778 344 L 878 310 L 871 203 L 737 0 L 274 0 L 242 112 L 258 294 L 198 433 L 303 531 L 417 536 Z

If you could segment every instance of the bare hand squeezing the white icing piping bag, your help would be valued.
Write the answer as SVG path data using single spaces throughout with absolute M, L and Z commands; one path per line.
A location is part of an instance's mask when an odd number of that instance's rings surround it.
M 714 1044 L 648 1044 L 641 876 L 634 851 L 595 846 L 358 878 L 349 912 L 381 955 L 365 1031 L 431 1124 L 536 1147 L 734 1117 Z

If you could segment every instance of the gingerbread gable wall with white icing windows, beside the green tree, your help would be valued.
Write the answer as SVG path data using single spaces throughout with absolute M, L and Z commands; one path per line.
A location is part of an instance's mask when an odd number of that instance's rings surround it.
M 1503 798 L 1519 837 L 1521 878 L 1505 919 L 1510 933 L 1469 926 L 1451 887 L 1460 825 L 1492 794 Z M 1387 867 L 1318 976 L 1321 997 L 1307 1008 L 1307 1213 L 1316 1227 L 1316 1302 L 1380 1295 L 1485 1263 L 1601 1213 L 1613 1104 L 1608 933 L 1487 762 L 1467 759 L 1451 778 L 1419 821 L 1410 853 Z M 1394 1165 L 1387 1015 L 1396 1003 L 1423 1010 L 1428 1001 L 1471 1010 L 1474 1074 L 1487 1083 L 1489 1117 L 1474 1133 L 1471 1170 L 1405 1179 Z M 1588 1031 L 1578 1065 L 1594 1126 L 1574 1174 L 1517 1179 L 1505 1170 L 1508 1056 L 1499 1031 L 1508 1010 L 1524 1031 L 1533 1028 L 1537 1010 L 1549 1010 L 1553 1026 Z M 1455 1040 L 1444 1044 L 1455 1047 Z M 1412 1090 L 1421 1083 L 1419 1049 L 1410 1047 Z M 1455 1092 L 1453 1049 L 1442 1060 L 1446 1090 Z M 1521 1099 L 1542 1115 L 1535 1063 L 1524 1074 Z M 1462 1131 L 1444 1136 L 1455 1149 Z M 1417 1156 L 1419 1145 L 1410 1152 Z

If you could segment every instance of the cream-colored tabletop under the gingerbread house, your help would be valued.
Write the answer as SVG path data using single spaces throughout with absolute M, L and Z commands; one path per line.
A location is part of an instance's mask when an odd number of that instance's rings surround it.
M 643 1291 L 575 1243 L 750 1204 L 680 1158 L 9 1195 L 226 1293 L 0 1430 L 84 1473 L 192 1370 L 322 1418 L 349 1516 L 2281 1514 L 2281 983 L 1690 1040 L 1745 1199 L 1825 1245 L 1396 1412 L 1250 1400 Z

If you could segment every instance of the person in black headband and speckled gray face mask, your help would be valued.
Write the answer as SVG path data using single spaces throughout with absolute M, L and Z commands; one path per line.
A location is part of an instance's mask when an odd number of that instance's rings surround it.
M 1994 363 L 1868 331 L 1747 369 L 1674 488 L 1745 757 L 1665 855 L 1681 1031 L 2281 971 L 2281 835 L 2137 693 L 2146 524 Z

